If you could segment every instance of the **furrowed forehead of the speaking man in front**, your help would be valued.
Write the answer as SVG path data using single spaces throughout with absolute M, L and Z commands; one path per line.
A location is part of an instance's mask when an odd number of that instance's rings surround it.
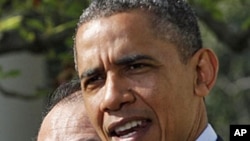
M 109 17 L 92 20 L 79 27 L 76 34 L 76 51 L 78 68 L 81 63 L 94 64 L 100 56 L 113 58 L 124 54 L 137 52 L 153 40 L 153 32 L 148 21 L 148 15 L 142 10 L 117 13 Z M 103 58 L 102 58 L 103 59 Z M 87 61 L 86 61 L 87 60 Z M 78 70 L 79 72 L 82 70 Z

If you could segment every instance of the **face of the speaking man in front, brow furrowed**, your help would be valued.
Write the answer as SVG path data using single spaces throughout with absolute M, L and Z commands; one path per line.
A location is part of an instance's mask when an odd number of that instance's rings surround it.
M 187 140 L 198 120 L 192 59 L 157 39 L 139 10 L 83 24 L 78 72 L 90 120 L 105 140 Z

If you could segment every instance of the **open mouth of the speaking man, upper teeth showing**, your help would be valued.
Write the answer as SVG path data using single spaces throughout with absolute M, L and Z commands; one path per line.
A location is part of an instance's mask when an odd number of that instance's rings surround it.
M 111 137 L 128 138 L 145 131 L 150 125 L 151 120 L 133 120 L 126 122 L 120 126 L 114 127 L 110 130 Z

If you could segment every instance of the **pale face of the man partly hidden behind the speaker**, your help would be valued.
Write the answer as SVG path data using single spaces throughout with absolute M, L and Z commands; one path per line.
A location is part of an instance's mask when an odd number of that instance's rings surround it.
M 44 118 L 38 141 L 100 141 L 83 103 L 59 102 Z

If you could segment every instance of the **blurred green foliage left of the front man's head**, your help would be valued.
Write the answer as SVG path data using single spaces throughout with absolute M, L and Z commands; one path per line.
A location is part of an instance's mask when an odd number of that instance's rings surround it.
M 87 0 L 0 0 L 0 55 L 28 51 L 47 58 L 48 87 L 75 74 L 72 45 Z

